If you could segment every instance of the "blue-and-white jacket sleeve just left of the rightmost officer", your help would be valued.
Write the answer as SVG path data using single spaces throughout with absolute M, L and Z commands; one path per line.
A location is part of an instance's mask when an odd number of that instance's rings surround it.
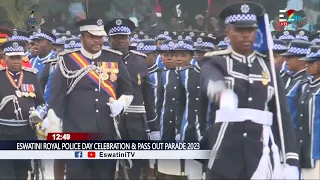
M 293 127 L 296 126 L 295 119 L 297 116 L 297 104 L 299 99 L 299 87 L 301 83 L 308 81 L 308 74 L 305 69 L 293 74 L 289 77 L 287 81 L 287 98 L 288 98 L 288 105 L 289 105 L 289 112 L 291 115 L 291 119 L 293 120 Z

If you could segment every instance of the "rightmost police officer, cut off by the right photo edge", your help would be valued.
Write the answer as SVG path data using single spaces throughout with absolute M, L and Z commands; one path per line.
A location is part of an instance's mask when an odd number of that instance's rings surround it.
M 297 144 L 300 152 L 300 166 L 303 179 L 320 178 L 320 47 L 311 46 L 307 57 L 307 72 L 313 76 L 301 85 L 302 91 L 296 116 Z M 311 112 L 311 113 L 310 113 Z

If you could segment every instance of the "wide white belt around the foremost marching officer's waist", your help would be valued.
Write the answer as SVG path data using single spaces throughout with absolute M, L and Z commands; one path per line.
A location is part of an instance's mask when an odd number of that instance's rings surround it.
M 249 108 L 219 109 L 216 111 L 215 123 L 244 122 L 246 120 L 271 126 L 273 122 L 273 113 Z

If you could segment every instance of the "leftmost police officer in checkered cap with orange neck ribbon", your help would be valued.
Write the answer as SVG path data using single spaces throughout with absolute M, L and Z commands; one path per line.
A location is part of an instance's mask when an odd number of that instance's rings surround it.
M 0 69 L 1 140 L 35 140 L 29 116 L 32 109 L 43 106 L 37 71 L 22 67 L 23 41 L 7 41 L 1 48 L 6 68 Z M 2 179 L 27 179 L 30 160 L 0 160 Z

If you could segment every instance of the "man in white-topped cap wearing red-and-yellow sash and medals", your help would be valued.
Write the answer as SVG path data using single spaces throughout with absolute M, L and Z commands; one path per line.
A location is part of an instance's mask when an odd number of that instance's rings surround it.
M 112 117 L 133 98 L 129 74 L 121 52 L 102 49 L 106 32 L 101 19 L 85 19 L 77 25 L 82 48 L 61 54 L 51 85 L 48 121 L 59 124 L 63 119 L 64 132 L 102 133 L 103 140 L 115 140 L 118 127 Z M 46 133 L 52 128 L 49 124 Z M 113 160 L 68 160 L 66 178 L 113 179 L 115 164 Z

